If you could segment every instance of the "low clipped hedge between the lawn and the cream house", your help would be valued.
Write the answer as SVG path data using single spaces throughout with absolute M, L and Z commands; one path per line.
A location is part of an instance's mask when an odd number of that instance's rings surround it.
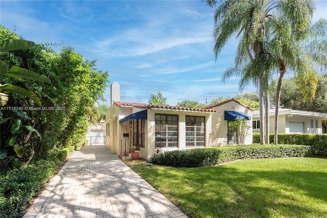
M 152 163 L 174 167 L 208 166 L 239 159 L 305 157 L 311 156 L 308 146 L 266 145 L 266 146 L 231 146 L 175 150 L 159 153 L 151 157 Z

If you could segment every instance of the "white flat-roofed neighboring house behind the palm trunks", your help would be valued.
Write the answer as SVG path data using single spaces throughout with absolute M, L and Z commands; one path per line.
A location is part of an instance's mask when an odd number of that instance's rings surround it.
M 260 133 L 259 110 L 252 113 L 253 133 Z M 326 133 L 327 113 L 279 109 L 278 133 Z M 269 111 L 269 132 L 274 133 L 275 109 Z

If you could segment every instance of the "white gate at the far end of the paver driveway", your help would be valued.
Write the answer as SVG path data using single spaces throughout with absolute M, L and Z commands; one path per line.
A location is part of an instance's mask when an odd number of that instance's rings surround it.
M 106 126 L 97 125 L 87 127 L 85 139 L 87 140 L 86 146 L 104 146 L 106 144 Z

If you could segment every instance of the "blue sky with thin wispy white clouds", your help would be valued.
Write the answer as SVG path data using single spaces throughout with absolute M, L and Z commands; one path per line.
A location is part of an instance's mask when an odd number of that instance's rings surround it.
M 327 19 L 327 0 L 316 1 L 314 21 Z M 217 61 L 213 53 L 215 8 L 195 1 L 1 1 L 0 21 L 36 43 L 72 46 L 97 59 L 110 82 L 121 85 L 121 101 L 148 103 L 161 91 L 168 104 L 232 98 L 239 80 L 221 76 L 233 65 L 237 41 Z M 277 73 L 277 72 L 276 72 Z M 249 85 L 244 92 L 254 92 Z M 105 91 L 110 102 L 110 84 Z

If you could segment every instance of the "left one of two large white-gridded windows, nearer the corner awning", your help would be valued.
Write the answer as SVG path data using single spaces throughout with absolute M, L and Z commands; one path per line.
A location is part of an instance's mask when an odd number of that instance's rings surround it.
M 178 147 L 178 115 L 155 114 L 155 148 Z

